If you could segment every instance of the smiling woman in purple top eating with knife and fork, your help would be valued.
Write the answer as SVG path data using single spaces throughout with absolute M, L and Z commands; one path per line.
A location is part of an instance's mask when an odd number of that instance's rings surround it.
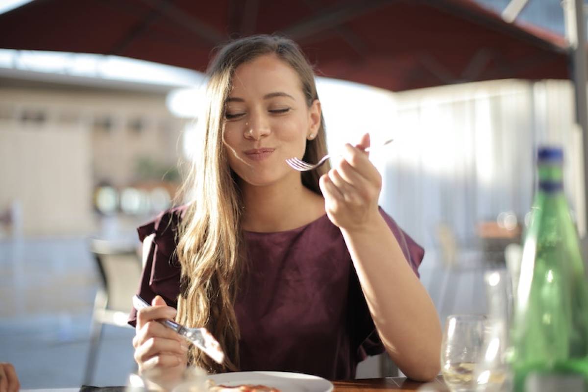
M 326 153 L 314 75 L 288 39 L 231 42 L 208 75 L 194 201 L 139 228 L 148 249 L 139 294 L 153 305 L 131 316 L 139 370 L 353 378 L 366 354 L 386 350 L 407 376 L 435 377 L 441 332 L 416 274 L 423 251 L 377 205 L 369 136 L 346 145 L 333 169 L 286 165 Z M 207 327 L 226 366 L 161 318 Z

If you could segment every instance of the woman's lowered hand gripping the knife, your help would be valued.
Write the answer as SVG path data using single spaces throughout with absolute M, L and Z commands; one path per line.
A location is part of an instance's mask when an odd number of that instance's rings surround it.
M 137 311 L 133 347 L 139 374 L 161 387 L 178 383 L 188 365 L 188 342 L 157 320 L 172 319 L 176 310 L 156 296 L 152 306 Z

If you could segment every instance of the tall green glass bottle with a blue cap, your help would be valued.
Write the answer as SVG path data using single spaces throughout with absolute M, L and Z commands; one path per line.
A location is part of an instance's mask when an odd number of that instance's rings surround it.
M 588 390 L 588 284 L 563 192 L 563 152 L 538 151 L 512 323 L 515 391 Z

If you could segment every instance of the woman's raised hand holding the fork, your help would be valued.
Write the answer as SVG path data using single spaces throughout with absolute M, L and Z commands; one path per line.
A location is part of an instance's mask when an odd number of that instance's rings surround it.
M 320 177 L 326 213 L 343 230 L 362 230 L 380 216 L 377 200 L 382 176 L 365 152 L 369 145 L 367 133 L 355 147 L 345 145 L 342 159 Z

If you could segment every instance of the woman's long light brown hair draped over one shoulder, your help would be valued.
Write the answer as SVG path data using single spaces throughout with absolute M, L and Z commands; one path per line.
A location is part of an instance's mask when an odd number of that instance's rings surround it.
M 309 107 L 318 99 L 312 67 L 295 42 L 276 35 L 229 42 L 219 49 L 208 68 L 205 113 L 199 120 L 195 146 L 198 151 L 183 185 L 191 202 L 180 226 L 177 247 L 182 269 L 177 319 L 186 326 L 205 326 L 218 339 L 227 358 L 222 366 L 198 349 L 189 351 L 189 364 L 212 372 L 239 368 L 240 334 L 234 305 L 245 257 L 240 229 L 242 197 L 223 145 L 225 101 L 235 69 L 270 53 L 298 73 Z M 306 141 L 303 159 L 316 162 L 325 153 L 321 115 L 318 133 Z M 324 165 L 320 170 L 303 172 L 303 185 L 320 194 L 319 177 L 328 169 Z

